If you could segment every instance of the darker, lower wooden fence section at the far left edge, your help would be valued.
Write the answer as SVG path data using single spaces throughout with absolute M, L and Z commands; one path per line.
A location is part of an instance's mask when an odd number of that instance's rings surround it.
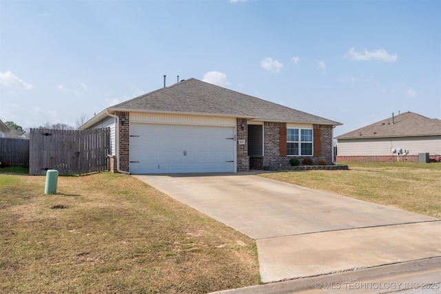
M 1 167 L 29 167 L 29 140 L 0 138 Z

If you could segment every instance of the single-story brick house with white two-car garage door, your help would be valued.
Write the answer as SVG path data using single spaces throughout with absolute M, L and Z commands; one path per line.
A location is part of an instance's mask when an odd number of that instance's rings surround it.
M 236 172 L 333 158 L 333 120 L 189 78 L 114 105 L 79 129 L 110 127 L 111 170 Z

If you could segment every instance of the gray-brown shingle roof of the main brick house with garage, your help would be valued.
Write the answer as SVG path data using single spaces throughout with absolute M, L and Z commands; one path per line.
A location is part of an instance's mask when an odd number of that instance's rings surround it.
M 178 112 L 254 118 L 287 123 L 341 125 L 333 120 L 300 112 L 223 87 L 189 78 L 125 101 L 110 109 L 125 111 Z

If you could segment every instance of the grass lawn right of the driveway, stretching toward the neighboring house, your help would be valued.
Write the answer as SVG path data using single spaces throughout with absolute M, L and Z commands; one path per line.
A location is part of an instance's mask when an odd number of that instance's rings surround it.
M 338 162 L 349 171 L 263 174 L 295 185 L 441 218 L 441 163 Z

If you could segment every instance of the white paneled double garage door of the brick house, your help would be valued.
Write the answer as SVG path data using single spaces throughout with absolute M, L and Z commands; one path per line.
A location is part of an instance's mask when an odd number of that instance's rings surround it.
M 130 172 L 232 172 L 234 127 L 130 124 Z

